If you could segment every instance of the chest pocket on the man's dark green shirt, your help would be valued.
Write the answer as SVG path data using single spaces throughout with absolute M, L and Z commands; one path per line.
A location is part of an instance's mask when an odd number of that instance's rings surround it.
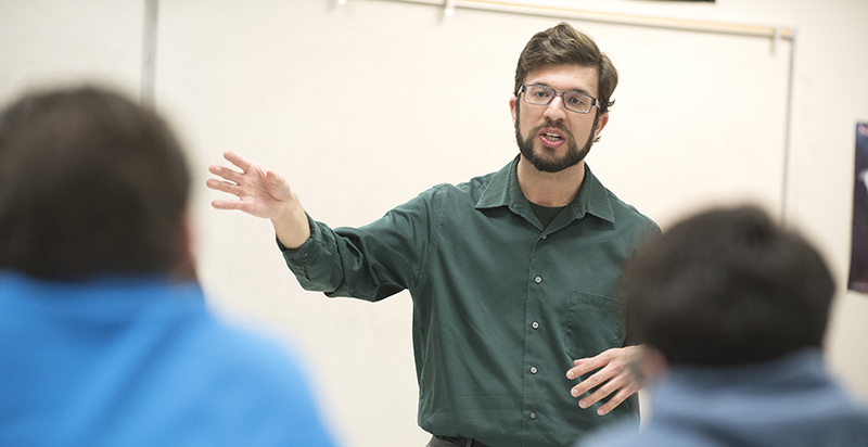
M 571 359 L 593 357 L 624 345 L 624 299 L 572 292 L 565 315 L 563 345 Z

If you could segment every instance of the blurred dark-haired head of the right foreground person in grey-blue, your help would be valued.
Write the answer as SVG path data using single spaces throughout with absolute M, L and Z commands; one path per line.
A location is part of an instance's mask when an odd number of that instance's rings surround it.
M 735 366 L 820 347 L 834 294 L 820 254 L 756 207 L 713 209 L 640 250 L 627 331 L 671 366 Z

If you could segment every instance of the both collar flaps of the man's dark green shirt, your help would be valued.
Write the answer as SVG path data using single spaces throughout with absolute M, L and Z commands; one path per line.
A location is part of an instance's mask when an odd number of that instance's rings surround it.
M 488 187 L 476 202 L 477 209 L 499 206 L 525 206 L 528 203 L 519 187 L 516 170 L 519 157 L 520 155 L 516 155 L 507 166 L 492 175 Z M 574 219 L 580 219 L 585 217 L 585 214 L 592 214 L 610 222 L 615 221 L 609 191 L 591 173 L 587 163 L 585 163 L 585 180 L 582 182 L 578 195 L 573 199 L 569 206 Z

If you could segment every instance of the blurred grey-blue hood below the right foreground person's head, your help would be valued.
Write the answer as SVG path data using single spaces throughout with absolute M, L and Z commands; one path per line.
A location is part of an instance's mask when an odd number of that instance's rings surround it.
M 819 349 L 749 366 L 674 367 L 650 424 L 715 446 L 868 446 L 868 410 L 832 381 Z

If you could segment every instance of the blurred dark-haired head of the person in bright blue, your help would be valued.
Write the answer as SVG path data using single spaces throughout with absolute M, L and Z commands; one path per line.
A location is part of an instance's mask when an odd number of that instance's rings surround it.
M 0 268 L 40 278 L 189 267 L 187 162 L 156 114 L 93 87 L 0 112 Z

